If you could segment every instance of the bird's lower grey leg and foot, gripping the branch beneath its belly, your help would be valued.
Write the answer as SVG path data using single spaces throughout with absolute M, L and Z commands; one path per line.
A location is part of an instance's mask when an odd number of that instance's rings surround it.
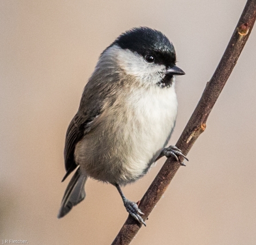
M 146 226 L 143 218 L 141 218 L 140 215 L 144 215 L 143 212 L 140 211 L 139 207 L 137 206 L 137 204 L 134 201 L 130 201 L 128 200 L 125 196 L 124 193 L 122 192 L 120 185 L 119 184 L 115 184 L 117 191 L 120 193 L 120 196 L 123 199 L 124 202 L 124 207 L 126 208 L 127 212 L 134 218 L 136 219 L 139 223 L 144 224 L 144 226 Z

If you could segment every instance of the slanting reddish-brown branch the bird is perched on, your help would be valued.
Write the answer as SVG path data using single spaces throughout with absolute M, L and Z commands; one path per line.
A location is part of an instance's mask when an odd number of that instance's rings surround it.
M 207 118 L 237 63 L 238 57 L 249 38 L 251 29 L 253 29 L 255 18 L 256 0 L 248 0 L 219 65 L 210 82 L 207 82 L 202 97 L 176 144 L 184 155 L 187 155 L 196 139 L 198 139 L 199 135 L 206 129 Z M 173 158 L 170 158 L 166 160 L 163 167 L 160 169 L 140 201 L 139 208 L 145 214 L 143 216 L 144 220 L 147 219 L 157 201 L 159 201 L 164 191 L 166 191 L 179 167 L 180 164 Z M 128 219 L 119 231 L 112 245 L 129 244 L 140 227 L 141 224 L 136 222 L 131 216 L 128 216 Z

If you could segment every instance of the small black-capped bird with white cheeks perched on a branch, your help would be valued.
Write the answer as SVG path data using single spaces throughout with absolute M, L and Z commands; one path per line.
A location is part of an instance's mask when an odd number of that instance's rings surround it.
M 101 53 L 66 132 L 62 181 L 77 170 L 58 218 L 84 200 L 91 177 L 115 185 L 128 213 L 145 225 L 121 186 L 139 180 L 162 156 L 187 159 L 175 146 L 164 148 L 177 115 L 175 76 L 185 74 L 175 64 L 172 43 L 149 27 L 126 31 Z

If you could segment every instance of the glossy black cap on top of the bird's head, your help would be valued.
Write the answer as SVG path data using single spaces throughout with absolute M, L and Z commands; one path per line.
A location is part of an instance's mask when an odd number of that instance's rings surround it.
M 176 62 L 174 46 L 166 35 L 149 27 L 136 27 L 128 30 L 121 34 L 112 45 L 119 45 L 122 49 L 129 49 L 143 57 L 152 54 L 157 64 L 169 66 Z

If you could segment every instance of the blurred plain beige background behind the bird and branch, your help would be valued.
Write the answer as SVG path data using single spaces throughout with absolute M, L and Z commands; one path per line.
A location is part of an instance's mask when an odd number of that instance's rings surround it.
M 115 187 L 88 180 L 86 199 L 57 219 L 68 180 L 64 141 L 100 53 L 149 26 L 173 42 L 183 131 L 245 6 L 216 1 L 0 2 L 0 243 L 111 244 L 127 218 Z M 132 244 L 256 243 L 256 29 L 162 200 Z M 140 200 L 164 159 L 123 189 Z M 2 244 L 2 243 L 1 243 Z

